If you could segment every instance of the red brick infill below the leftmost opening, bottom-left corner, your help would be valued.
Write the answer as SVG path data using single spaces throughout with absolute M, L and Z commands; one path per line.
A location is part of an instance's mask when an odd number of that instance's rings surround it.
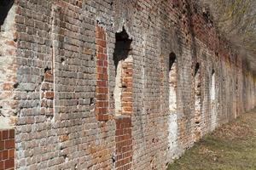
M 15 168 L 15 129 L 0 130 L 0 169 Z

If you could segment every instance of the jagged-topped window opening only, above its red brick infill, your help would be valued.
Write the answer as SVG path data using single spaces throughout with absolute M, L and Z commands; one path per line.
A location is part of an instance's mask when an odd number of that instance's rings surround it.
M 125 29 L 115 34 L 116 42 L 113 53 L 115 66 L 115 87 L 113 92 L 115 114 L 129 115 L 131 113 L 131 39 Z

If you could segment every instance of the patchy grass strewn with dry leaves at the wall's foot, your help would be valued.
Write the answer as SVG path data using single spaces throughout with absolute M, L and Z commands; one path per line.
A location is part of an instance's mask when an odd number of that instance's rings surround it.
M 256 109 L 208 134 L 167 170 L 256 170 Z

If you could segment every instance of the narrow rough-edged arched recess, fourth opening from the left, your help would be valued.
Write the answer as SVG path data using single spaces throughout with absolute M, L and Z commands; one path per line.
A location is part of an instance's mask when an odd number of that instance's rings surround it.
M 201 68 L 195 64 L 195 141 L 201 138 Z

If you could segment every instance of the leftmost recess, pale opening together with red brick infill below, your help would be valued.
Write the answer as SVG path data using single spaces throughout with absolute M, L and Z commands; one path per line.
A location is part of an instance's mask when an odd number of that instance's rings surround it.
M 0 1 L 0 169 L 15 169 L 15 127 L 20 114 L 17 89 L 17 29 L 14 0 Z M 2 135 L 3 134 L 3 135 Z M 2 138 L 3 136 L 3 138 Z M 4 146 L 5 145 L 5 146 Z M 5 158 L 4 158 L 5 156 Z M 15 157 L 14 157 L 15 156 Z M 5 164 L 3 168 L 3 164 Z

